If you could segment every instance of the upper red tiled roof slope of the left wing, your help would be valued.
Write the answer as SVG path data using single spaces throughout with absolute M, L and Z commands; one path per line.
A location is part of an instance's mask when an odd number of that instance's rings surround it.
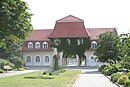
M 33 30 L 29 37 L 26 38 L 25 41 L 43 41 L 49 40 L 48 36 L 52 33 L 53 29 L 40 29 L 40 30 Z

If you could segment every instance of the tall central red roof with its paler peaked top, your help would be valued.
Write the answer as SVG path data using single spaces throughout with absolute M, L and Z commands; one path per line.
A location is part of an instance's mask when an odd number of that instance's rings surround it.
M 72 15 L 56 21 L 54 30 L 50 35 L 50 38 L 75 37 L 89 37 L 89 34 L 85 29 L 84 21 Z

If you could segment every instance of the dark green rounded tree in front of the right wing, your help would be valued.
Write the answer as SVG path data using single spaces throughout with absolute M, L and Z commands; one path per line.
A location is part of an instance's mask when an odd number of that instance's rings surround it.
M 119 37 L 112 32 L 106 32 L 99 36 L 98 46 L 95 50 L 95 55 L 101 62 L 116 63 L 120 60 L 118 57 L 117 43 Z

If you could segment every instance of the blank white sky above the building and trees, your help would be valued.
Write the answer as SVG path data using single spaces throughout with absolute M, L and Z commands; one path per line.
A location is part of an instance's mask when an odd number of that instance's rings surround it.
M 68 15 L 84 20 L 86 28 L 117 28 L 130 32 L 130 0 L 23 0 L 28 3 L 34 29 L 54 29 Z

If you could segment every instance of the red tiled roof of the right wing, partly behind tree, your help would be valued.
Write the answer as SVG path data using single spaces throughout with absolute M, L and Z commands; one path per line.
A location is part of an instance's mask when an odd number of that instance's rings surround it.
M 90 39 L 97 39 L 100 34 L 105 32 L 114 32 L 117 34 L 116 28 L 86 28 L 86 30 L 90 35 Z

